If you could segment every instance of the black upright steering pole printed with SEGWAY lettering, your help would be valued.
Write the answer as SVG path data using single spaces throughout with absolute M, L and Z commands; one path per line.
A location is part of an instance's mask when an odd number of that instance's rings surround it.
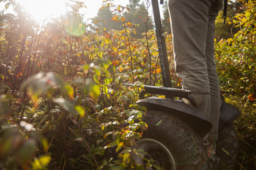
M 161 66 L 162 80 L 164 87 L 172 87 L 170 67 L 167 58 L 164 30 L 162 29 L 158 0 L 151 0 L 155 21 L 156 40 L 158 44 L 159 61 Z

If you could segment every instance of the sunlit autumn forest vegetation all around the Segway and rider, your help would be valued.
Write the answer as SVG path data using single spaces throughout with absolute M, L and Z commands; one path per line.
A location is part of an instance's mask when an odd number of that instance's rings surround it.
M 162 85 L 150 1 L 126 7 L 106 0 L 84 22 L 86 4 L 38 23 L 15 0 L 0 0 L 0 169 L 141 169 L 131 146 L 145 129 L 135 104 L 142 84 Z M 234 122 L 234 169 L 256 169 L 256 2 L 230 1 L 216 20 L 215 62 Z M 162 18 L 172 83 L 175 75 L 166 2 Z M 134 83 L 127 87 L 122 83 Z M 124 126 L 129 124 L 129 126 Z M 144 165 L 152 166 L 150 160 Z

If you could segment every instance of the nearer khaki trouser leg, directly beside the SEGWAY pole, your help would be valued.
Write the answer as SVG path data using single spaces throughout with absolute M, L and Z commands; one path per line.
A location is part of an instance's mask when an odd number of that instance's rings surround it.
M 210 117 L 206 39 L 211 0 L 169 0 L 174 60 L 182 87 L 192 90 L 198 109 Z

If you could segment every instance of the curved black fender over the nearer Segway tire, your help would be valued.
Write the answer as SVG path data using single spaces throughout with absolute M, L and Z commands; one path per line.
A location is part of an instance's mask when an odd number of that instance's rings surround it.
M 212 129 L 212 124 L 206 115 L 183 101 L 150 97 L 139 100 L 137 104 L 148 110 L 162 111 L 180 118 L 189 124 L 200 137 L 204 137 Z

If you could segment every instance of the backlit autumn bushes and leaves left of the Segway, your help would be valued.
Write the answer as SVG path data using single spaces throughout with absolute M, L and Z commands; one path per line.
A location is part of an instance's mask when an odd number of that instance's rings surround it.
M 134 104 L 143 87 L 122 83 L 142 82 L 149 73 L 146 60 L 132 68 L 132 61 L 143 61 L 137 47 L 143 50 L 145 40 L 129 41 L 135 31 L 123 18 L 129 8 L 106 3 L 119 15 L 110 19 L 123 25 L 107 32 L 96 27 L 97 19 L 92 25 L 82 22 L 75 8 L 80 2 L 43 25 L 10 2 L 17 16 L 1 14 L 0 21 L 1 111 L 6 113 L 1 114 L 1 168 L 142 167 L 132 161 L 137 152 L 131 146 L 146 128 L 134 121 L 146 111 Z M 149 37 L 155 41 L 153 32 Z

